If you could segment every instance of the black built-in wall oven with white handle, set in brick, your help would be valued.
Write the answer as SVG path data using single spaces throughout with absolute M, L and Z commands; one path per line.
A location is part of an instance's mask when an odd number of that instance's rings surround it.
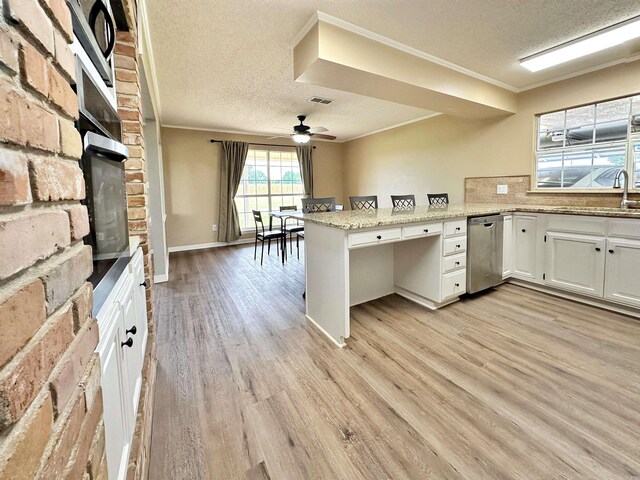
M 77 60 L 78 121 L 84 146 L 84 172 L 90 233 L 84 242 L 93 249 L 94 316 L 127 268 L 129 222 L 124 161 L 129 152 L 121 143 L 121 122 L 115 108 Z

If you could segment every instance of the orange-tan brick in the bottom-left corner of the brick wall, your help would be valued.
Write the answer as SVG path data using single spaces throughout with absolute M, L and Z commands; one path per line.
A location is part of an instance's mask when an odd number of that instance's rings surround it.
M 52 424 L 51 396 L 45 393 L 11 432 L 3 452 L 6 460 L 0 464 L 0 478 L 34 478 L 51 435 Z

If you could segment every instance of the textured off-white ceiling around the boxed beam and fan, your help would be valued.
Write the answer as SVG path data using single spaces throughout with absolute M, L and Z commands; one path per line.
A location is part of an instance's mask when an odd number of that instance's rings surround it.
M 639 0 L 148 0 L 162 123 L 271 134 L 307 114 L 344 141 L 431 112 L 293 80 L 316 10 L 517 89 L 640 53 L 621 46 L 530 73 L 518 60 L 640 15 Z M 307 102 L 328 97 L 331 105 Z

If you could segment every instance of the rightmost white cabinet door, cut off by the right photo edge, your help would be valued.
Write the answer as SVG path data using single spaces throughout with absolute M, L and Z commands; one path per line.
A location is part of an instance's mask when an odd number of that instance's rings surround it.
M 604 297 L 640 307 L 640 241 L 607 240 Z

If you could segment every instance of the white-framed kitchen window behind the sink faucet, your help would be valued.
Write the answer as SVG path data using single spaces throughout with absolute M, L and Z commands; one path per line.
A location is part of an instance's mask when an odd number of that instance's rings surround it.
M 537 188 L 611 188 L 622 168 L 640 188 L 640 95 L 539 115 L 537 131 Z

